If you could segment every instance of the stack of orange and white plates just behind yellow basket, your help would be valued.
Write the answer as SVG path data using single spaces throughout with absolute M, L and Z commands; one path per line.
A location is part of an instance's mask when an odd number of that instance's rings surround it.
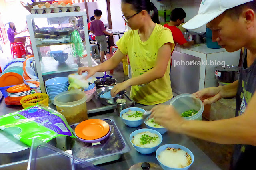
M 8 89 L 6 89 L 6 91 L 9 96 L 8 99 L 10 101 L 20 102 L 23 97 L 31 94 L 32 89 L 23 83 L 20 85 L 9 87 Z

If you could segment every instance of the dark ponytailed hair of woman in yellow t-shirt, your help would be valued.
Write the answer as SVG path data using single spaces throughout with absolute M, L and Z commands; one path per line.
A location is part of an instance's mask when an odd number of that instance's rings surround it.
M 122 2 L 126 4 L 131 4 L 133 10 L 136 12 L 146 10 L 148 11 L 148 14 L 150 14 L 150 11 L 153 11 L 153 14 L 151 16 L 152 21 L 154 23 L 160 24 L 158 18 L 158 10 L 156 9 L 154 3 L 150 2 L 150 0 L 122 0 Z

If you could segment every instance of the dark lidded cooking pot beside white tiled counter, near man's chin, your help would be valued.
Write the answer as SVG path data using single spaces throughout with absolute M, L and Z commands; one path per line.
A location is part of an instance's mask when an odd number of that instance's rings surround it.
M 234 65 L 226 65 L 225 67 L 215 67 L 216 80 L 223 83 L 232 83 L 238 80 L 240 67 Z

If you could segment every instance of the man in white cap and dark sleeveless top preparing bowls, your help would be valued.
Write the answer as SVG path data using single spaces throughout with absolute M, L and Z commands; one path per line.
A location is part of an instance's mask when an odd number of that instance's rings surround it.
M 236 144 L 231 169 L 252 169 L 256 153 L 256 1 L 202 0 L 198 15 L 183 27 L 196 29 L 206 24 L 212 41 L 228 52 L 245 47 L 239 80 L 210 87 L 194 95 L 203 104 L 236 96 L 236 117 L 218 121 L 185 121 L 174 107 L 158 105 L 151 117 L 168 130 L 220 144 Z

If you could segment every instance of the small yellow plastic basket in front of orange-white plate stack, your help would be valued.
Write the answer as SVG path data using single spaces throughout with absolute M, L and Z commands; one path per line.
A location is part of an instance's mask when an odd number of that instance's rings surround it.
M 41 103 L 43 105 L 48 106 L 49 97 L 45 93 L 34 93 L 32 95 L 27 95 L 20 100 L 22 107 L 25 109 L 30 106 L 34 106 L 37 103 Z

